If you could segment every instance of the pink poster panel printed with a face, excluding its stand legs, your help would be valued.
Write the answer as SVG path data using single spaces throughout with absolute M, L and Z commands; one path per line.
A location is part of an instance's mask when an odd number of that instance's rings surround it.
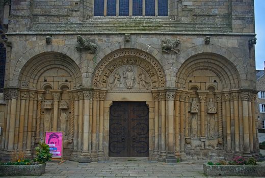
M 63 132 L 46 132 L 45 143 L 49 145 L 52 157 L 62 157 Z

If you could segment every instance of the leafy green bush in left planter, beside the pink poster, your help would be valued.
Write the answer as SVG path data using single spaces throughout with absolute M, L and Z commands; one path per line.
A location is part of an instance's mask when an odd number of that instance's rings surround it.
M 35 150 L 36 150 L 36 158 L 34 159 L 35 162 L 42 164 L 45 163 L 46 161 L 51 160 L 52 154 L 49 153 L 49 145 L 39 142 L 39 146 L 35 147 Z

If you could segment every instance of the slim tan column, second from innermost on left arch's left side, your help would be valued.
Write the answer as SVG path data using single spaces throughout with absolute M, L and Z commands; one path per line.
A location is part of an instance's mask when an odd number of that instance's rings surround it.
M 35 92 L 30 92 L 30 102 L 29 102 L 29 117 L 28 117 L 28 135 L 26 139 L 26 150 L 31 150 L 31 140 L 32 140 L 32 121 L 33 121 L 33 105 L 34 99 L 36 97 Z

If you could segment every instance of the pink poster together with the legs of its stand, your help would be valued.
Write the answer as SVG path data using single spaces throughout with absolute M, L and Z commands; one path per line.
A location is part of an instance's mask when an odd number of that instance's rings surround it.
M 51 161 L 59 162 L 58 164 L 64 163 L 66 160 L 63 160 L 63 134 L 64 132 L 45 132 L 45 143 L 50 147 L 50 153 L 52 154 Z

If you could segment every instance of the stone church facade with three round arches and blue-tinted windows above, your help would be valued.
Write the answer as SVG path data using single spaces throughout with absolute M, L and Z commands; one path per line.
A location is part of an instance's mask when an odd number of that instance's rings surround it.
M 253 0 L 12 0 L 6 11 L 2 158 L 32 155 L 45 131 L 63 131 L 76 161 L 258 155 Z

